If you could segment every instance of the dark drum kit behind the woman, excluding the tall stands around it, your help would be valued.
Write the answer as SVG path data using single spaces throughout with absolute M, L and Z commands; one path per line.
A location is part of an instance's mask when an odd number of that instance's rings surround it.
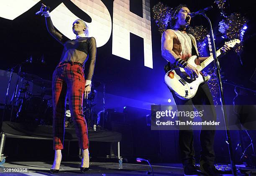
M 18 94 L 15 98 L 14 107 L 17 111 L 15 121 L 16 122 L 33 122 L 37 125 L 52 125 L 53 118 L 53 105 L 52 105 L 52 89 L 51 81 L 42 79 L 34 74 L 28 74 L 21 72 L 19 74 L 23 80 L 22 87 L 19 88 Z M 38 94 L 32 94 L 29 91 L 30 84 L 39 86 L 41 92 Z M 84 101 L 83 113 L 87 118 L 88 126 L 90 127 L 93 121 L 93 112 L 92 107 L 96 104 L 93 104 L 95 95 L 97 93 L 97 87 L 101 83 L 93 82 L 91 94 L 88 99 Z M 65 127 L 74 128 L 72 122 L 71 113 L 69 110 L 69 101 L 66 102 L 66 114 L 65 114 Z

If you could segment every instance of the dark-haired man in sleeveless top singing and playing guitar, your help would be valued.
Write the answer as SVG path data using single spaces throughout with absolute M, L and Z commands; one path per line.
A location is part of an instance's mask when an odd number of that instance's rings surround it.
M 193 80 L 200 74 L 198 69 L 187 63 L 192 55 L 198 56 L 195 37 L 186 33 L 186 26 L 191 20 L 190 11 L 186 5 L 179 5 L 172 11 L 172 17 L 169 20 L 169 29 L 164 31 L 161 39 L 161 54 L 167 61 L 170 62 L 172 68 L 182 67 L 188 76 Z M 225 45 L 221 48 L 222 53 L 230 50 Z M 208 57 L 197 57 L 195 63 L 199 65 Z M 167 70 L 169 71 L 169 70 Z M 179 111 L 194 111 L 194 106 L 198 111 L 203 110 L 202 121 L 216 120 L 216 112 L 210 89 L 206 83 L 199 85 L 197 93 L 191 99 L 181 99 L 173 91 L 172 95 Z M 203 108 L 202 108 L 203 107 Z M 181 121 L 192 120 L 190 117 L 179 117 Z M 205 129 L 204 129 L 205 128 Z M 206 130 L 207 127 L 202 127 L 200 133 L 200 170 L 210 176 L 218 175 L 217 169 L 214 166 L 215 153 L 213 150 L 215 130 Z M 182 164 L 185 175 L 198 175 L 195 168 L 195 150 L 193 148 L 193 130 L 192 126 L 186 126 L 182 129 L 179 127 L 179 147 L 181 150 Z

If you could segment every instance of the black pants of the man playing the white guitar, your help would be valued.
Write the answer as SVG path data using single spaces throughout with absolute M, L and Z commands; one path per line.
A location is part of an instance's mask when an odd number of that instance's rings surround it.
M 210 89 L 206 83 L 200 84 L 198 87 L 197 93 L 192 99 L 189 100 L 183 100 L 176 96 L 172 92 L 172 95 L 174 97 L 174 101 L 177 105 L 177 108 L 179 111 L 193 111 L 194 107 L 198 111 L 203 112 L 202 121 L 210 121 L 210 120 L 216 120 L 216 112 L 213 104 L 212 95 L 210 93 Z M 178 106 L 178 105 L 187 105 L 187 106 Z M 212 106 L 202 106 L 202 105 L 212 105 Z M 194 106 L 194 107 L 193 107 Z M 180 119 L 179 119 L 180 120 Z M 183 121 L 182 119 L 181 121 Z M 187 117 L 187 120 L 191 120 L 190 117 Z M 202 130 L 200 132 L 200 144 L 202 150 L 200 151 L 200 161 L 204 161 L 207 163 L 213 163 L 215 158 L 215 153 L 213 149 L 214 145 L 214 135 L 215 130 L 204 130 L 202 126 Z M 193 136 L 193 130 L 191 129 L 186 130 L 179 130 L 179 147 L 181 150 L 181 158 L 182 163 L 195 163 L 195 150 L 193 147 L 194 142 L 194 136 Z

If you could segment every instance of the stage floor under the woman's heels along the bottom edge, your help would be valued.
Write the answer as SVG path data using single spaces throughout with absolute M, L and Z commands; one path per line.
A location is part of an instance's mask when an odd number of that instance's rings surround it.
M 59 173 L 49 173 L 52 163 L 47 162 L 10 162 L 0 165 L 0 175 L 13 176 L 81 176 L 79 162 L 61 162 Z M 164 164 L 165 166 L 153 165 L 154 176 L 183 176 L 181 164 Z M 150 176 L 146 171 L 151 171 L 148 165 L 123 163 L 123 169 L 118 169 L 118 163 L 90 162 L 90 170 L 84 173 L 86 176 Z M 6 168 L 28 168 L 29 172 L 3 173 Z M 225 174 L 225 176 L 228 176 Z

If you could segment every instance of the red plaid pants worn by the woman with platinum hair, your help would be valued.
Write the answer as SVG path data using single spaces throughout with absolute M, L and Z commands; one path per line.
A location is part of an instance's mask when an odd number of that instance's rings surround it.
M 54 150 L 63 149 L 67 92 L 79 147 L 87 149 L 87 124 L 82 112 L 85 87 L 82 66 L 70 63 L 59 64 L 54 70 L 52 81 Z

